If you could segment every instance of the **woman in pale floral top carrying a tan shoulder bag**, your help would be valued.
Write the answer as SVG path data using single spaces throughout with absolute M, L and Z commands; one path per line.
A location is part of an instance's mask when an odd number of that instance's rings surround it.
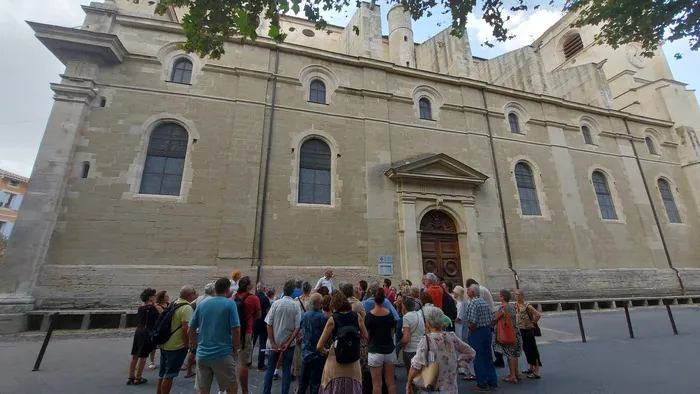
M 429 365 L 429 359 L 433 359 L 427 350 L 434 355 L 434 362 L 439 362 L 438 388 L 443 394 L 457 394 L 457 367 L 466 367 L 469 360 L 476 355 L 474 349 L 462 342 L 453 332 L 442 330 L 444 326 L 443 313 L 440 309 L 426 305 L 423 307 L 423 315 L 427 326 L 427 334 L 423 336 L 416 355 L 411 360 L 411 370 L 408 373 L 406 393 L 421 393 L 413 386 L 413 379 L 420 374 L 424 366 Z M 428 346 L 427 341 L 430 342 Z

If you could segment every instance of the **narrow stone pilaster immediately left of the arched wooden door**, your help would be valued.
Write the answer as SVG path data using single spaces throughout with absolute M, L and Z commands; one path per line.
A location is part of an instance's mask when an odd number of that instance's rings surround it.
M 401 239 L 401 277 L 413 283 L 423 279 L 415 197 L 399 199 L 399 236 Z

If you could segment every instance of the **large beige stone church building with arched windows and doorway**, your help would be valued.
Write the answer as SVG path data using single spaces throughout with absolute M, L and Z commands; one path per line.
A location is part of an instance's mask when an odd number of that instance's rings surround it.
M 663 52 L 594 46 L 567 16 L 480 59 L 449 30 L 414 43 L 400 7 L 383 36 L 364 3 L 202 59 L 178 49 L 182 10 L 149 3 L 29 22 L 66 70 L 2 311 L 124 307 L 233 269 L 278 289 L 332 267 L 542 300 L 700 293 L 700 110 Z

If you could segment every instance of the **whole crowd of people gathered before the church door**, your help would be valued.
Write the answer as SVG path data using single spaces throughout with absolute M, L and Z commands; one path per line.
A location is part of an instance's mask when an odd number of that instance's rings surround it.
M 265 372 L 263 394 L 281 379 L 281 392 L 360 394 L 397 392 L 395 368 L 408 374 L 407 393 L 458 392 L 459 380 L 471 389 L 497 389 L 497 367 L 509 368 L 503 382 L 540 379 L 540 314 L 522 291 L 491 292 L 474 279 L 465 287 L 432 273 L 422 286 L 390 279 L 357 285 L 333 281 L 326 270 L 315 286 L 301 278 L 274 288 L 234 271 L 204 288 L 180 289 L 169 302 L 166 292 L 141 293 L 128 385 L 146 383 L 148 358 L 155 369 L 160 349 L 157 394 L 169 394 L 173 379 L 195 377 L 199 393 L 216 380 L 219 393 L 247 394 L 249 368 L 258 344 L 257 370 Z M 525 353 L 527 368 L 519 370 Z

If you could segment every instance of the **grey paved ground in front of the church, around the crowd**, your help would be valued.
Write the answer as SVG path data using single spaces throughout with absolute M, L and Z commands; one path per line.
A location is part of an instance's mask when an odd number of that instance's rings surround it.
M 543 317 L 542 379 L 517 386 L 501 384 L 502 393 L 541 394 L 697 394 L 700 307 L 674 307 L 680 335 L 674 336 L 666 310 L 630 310 L 635 339 L 630 339 L 622 310 L 586 312 L 588 343 L 581 343 L 575 313 Z M 126 386 L 131 332 L 58 332 L 41 370 L 32 366 L 41 347 L 39 333 L 0 337 L 0 394 L 154 393 L 157 374 L 148 369 L 143 386 Z M 521 366 L 524 364 L 521 359 Z M 406 374 L 398 371 L 399 392 Z M 498 370 L 503 376 L 504 369 Z M 263 374 L 251 371 L 251 393 L 262 391 Z M 178 378 L 173 394 L 192 394 L 194 380 Z M 474 385 L 462 382 L 466 390 Z M 273 393 L 279 392 L 279 382 Z M 460 392 L 462 392 L 460 390 Z

